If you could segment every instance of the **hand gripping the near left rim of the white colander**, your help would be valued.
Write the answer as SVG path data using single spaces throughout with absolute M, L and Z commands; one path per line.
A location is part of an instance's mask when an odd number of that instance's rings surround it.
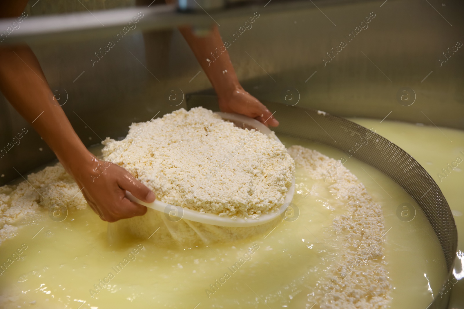
M 90 162 L 79 165 L 71 168 L 71 173 L 79 187 L 84 188 L 85 200 L 104 221 L 114 222 L 147 212 L 145 206 L 127 199 L 126 190 L 143 202 L 155 201 L 156 196 L 150 189 L 116 164 L 93 157 Z

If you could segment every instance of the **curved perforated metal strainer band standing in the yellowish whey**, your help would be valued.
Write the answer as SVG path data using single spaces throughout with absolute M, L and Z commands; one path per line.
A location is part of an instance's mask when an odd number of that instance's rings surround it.
M 217 110 L 216 98 L 212 95 L 189 95 L 187 107 L 203 106 Z M 281 103 L 263 102 L 272 112 L 275 111 L 280 125 L 273 130 L 298 139 L 308 139 L 349 152 L 366 133 L 373 136 L 367 145 L 354 151 L 357 158 L 380 170 L 398 183 L 412 196 L 424 212 L 438 236 L 448 269 L 447 280 L 452 269 L 458 246 L 458 231 L 451 209 L 437 183 L 406 151 L 379 134 L 352 121 L 309 108 L 289 107 Z M 372 142 L 371 142 L 372 141 Z M 446 308 L 450 293 L 445 284 L 434 302 L 428 307 Z

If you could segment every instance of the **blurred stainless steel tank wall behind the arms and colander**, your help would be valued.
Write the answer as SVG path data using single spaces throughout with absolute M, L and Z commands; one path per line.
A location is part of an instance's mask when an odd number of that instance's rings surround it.
M 187 94 L 213 94 L 175 30 L 184 24 L 219 25 L 242 86 L 281 103 L 277 119 L 296 106 L 464 129 L 462 1 L 233 1 L 212 3 L 208 13 L 134 1 L 79 3 L 30 1 L 21 28 L 0 44 L 30 44 L 87 146 L 125 136 L 131 122 L 187 107 Z M 101 53 L 138 12 L 137 28 Z M 252 28 L 234 35 L 254 13 Z M 9 23 L 1 20 L 0 29 Z M 55 158 L 3 96 L 0 126 L 1 149 L 27 130 L 1 156 L 0 184 Z

